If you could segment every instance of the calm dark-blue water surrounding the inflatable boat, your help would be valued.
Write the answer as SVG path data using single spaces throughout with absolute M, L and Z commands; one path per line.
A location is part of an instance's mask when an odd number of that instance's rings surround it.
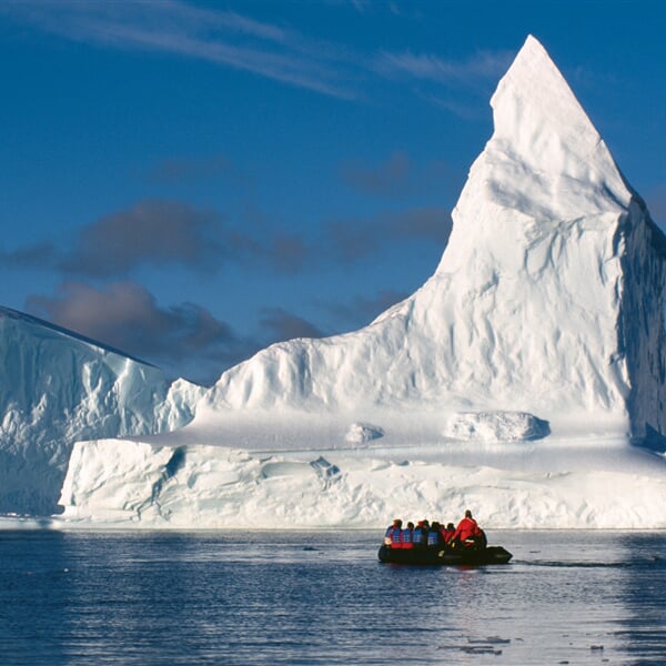
M 0 532 L 0 663 L 666 664 L 665 534 L 495 532 L 477 569 L 380 536 Z

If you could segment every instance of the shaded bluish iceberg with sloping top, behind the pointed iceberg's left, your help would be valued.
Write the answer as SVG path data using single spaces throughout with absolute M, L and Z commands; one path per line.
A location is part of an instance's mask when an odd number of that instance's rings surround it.
M 0 307 L 0 513 L 53 513 L 77 440 L 173 430 L 192 418 L 202 393 Z

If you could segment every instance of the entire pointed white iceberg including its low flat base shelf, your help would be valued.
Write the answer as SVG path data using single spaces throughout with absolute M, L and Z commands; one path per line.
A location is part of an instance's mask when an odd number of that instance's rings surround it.
M 369 326 L 268 347 L 181 431 L 75 445 L 65 518 L 666 527 L 662 232 L 543 47 L 434 275 Z

